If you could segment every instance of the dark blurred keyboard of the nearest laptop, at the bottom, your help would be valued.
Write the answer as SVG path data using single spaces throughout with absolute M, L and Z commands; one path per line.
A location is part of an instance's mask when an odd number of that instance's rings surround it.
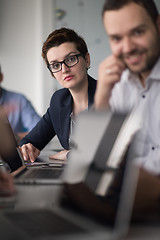
M 85 232 L 84 229 L 49 210 L 11 212 L 5 215 L 16 227 L 31 237 Z

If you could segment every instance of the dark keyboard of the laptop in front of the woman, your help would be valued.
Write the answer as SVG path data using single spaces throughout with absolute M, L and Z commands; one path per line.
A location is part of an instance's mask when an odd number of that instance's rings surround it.
M 29 169 L 25 174 L 25 177 L 31 179 L 54 179 L 58 178 L 62 174 L 62 169 L 41 169 L 41 168 L 34 168 Z

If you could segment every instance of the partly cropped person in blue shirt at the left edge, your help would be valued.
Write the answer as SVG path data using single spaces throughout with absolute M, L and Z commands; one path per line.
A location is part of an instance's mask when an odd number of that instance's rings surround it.
M 0 84 L 3 74 L 0 66 Z M 39 121 L 40 116 L 36 113 L 32 104 L 20 93 L 8 91 L 0 86 L 0 105 L 5 108 L 8 120 L 17 137 L 20 140 Z

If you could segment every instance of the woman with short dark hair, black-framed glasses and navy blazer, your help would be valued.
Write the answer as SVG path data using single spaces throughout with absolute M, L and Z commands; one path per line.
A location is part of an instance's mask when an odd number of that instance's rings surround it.
M 42 57 L 62 89 L 53 94 L 47 112 L 20 142 L 21 152 L 24 160 L 34 162 L 57 135 L 64 150 L 51 158 L 66 160 L 75 117 L 93 104 L 96 80 L 87 73 L 90 55 L 86 43 L 71 29 L 53 31 L 43 44 Z

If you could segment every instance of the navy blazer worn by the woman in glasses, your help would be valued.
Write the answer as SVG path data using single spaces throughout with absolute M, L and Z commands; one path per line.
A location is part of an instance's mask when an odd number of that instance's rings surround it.
M 88 75 L 88 105 L 94 102 L 97 81 Z M 56 91 L 51 98 L 50 106 L 37 125 L 21 140 L 20 146 L 32 143 L 42 150 L 57 135 L 62 147 L 69 150 L 70 114 L 73 99 L 67 88 Z

